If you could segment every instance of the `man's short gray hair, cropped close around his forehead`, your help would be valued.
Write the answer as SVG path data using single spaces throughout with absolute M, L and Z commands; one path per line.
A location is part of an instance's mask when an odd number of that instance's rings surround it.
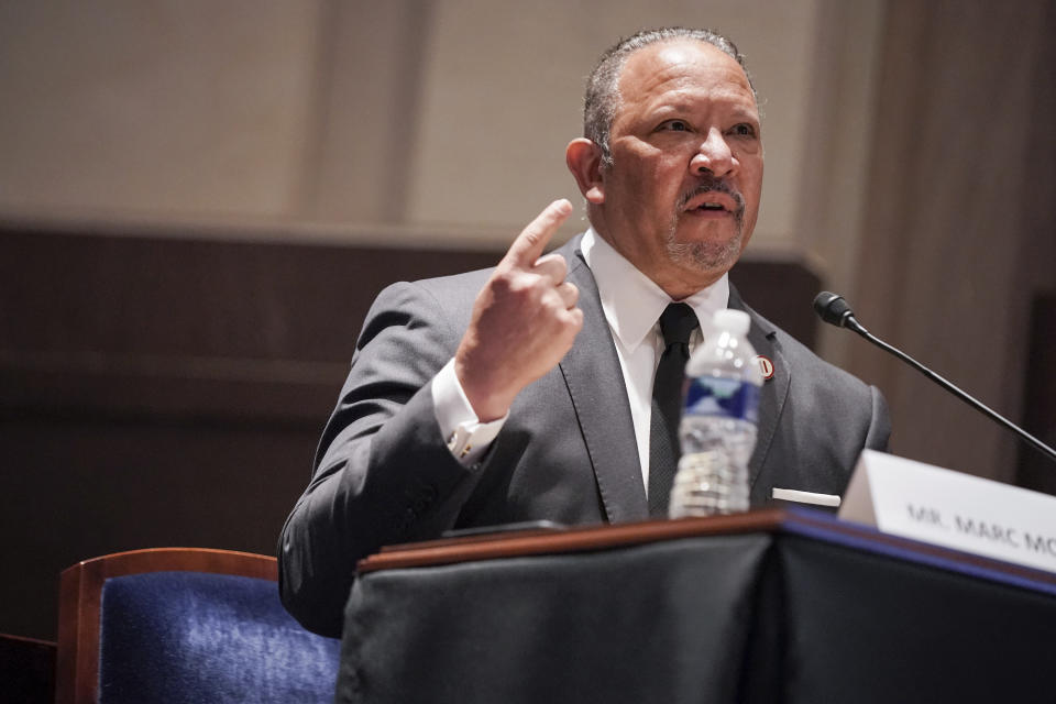
M 745 65 L 745 55 L 737 51 L 733 40 L 715 30 L 691 30 L 682 26 L 666 26 L 659 30 L 644 30 L 623 38 L 609 47 L 586 80 L 586 95 L 583 99 L 583 136 L 597 144 L 602 150 L 602 165 L 612 166 L 613 153 L 608 136 L 619 108 L 619 74 L 627 63 L 627 58 L 650 44 L 671 42 L 675 40 L 695 40 L 711 44 L 725 54 L 732 56 L 740 65 L 748 78 L 752 95 L 756 87 L 751 82 L 748 67 Z M 757 97 L 758 99 L 758 97 Z

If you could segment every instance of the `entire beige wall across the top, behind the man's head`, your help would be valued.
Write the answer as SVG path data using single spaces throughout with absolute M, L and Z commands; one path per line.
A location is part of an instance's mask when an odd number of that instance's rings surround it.
M 866 95 L 879 3 L 851 13 L 866 21 L 839 48 Z M 756 245 L 802 252 L 807 138 L 831 112 L 814 101 L 833 58 L 818 46 L 842 32 L 821 24 L 831 4 L 6 3 L 0 89 L 16 108 L 0 116 L 0 213 L 337 223 L 327 235 L 352 240 L 439 229 L 498 248 L 578 196 L 563 150 L 597 54 L 642 26 L 712 25 L 740 43 L 762 97 Z M 837 119 L 867 122 L 867 107 Z

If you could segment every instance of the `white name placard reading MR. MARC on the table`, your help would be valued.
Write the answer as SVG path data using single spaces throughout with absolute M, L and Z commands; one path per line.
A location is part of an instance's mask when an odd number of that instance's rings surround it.
M 1056 497 L 865 450 L 839 517 L 1056 572 Z

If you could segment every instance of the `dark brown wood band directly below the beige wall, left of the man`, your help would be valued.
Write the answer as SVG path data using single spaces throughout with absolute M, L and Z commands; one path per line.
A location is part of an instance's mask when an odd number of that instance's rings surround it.
M 491 252 L 0 233 L 4 349 L 339 361 L 386 284 Z

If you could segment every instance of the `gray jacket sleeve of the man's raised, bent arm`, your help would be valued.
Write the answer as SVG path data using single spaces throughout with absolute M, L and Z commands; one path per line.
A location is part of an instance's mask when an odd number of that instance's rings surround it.
M 337 637 L 356 562 L 450 528 L 475 485 L 440 436 L 431 380 L 462 330 L 418 284 L 386 288 L 367 314 L 308 488 L 283 528 L 279 592 L 306 628 Z

